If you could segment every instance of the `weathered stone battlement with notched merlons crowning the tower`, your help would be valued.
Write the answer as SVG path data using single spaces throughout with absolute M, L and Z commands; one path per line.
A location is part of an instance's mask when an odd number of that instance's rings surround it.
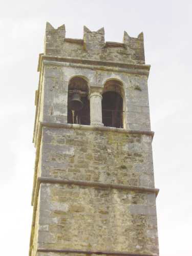
M 48 22 L 44 54 L 54 57 L 116 61 L 131 64 L 145 63 L 143 33 L 135 38 L 124 31 L 122 43 L 105 42 L 104 28 L 91 31 L 84 26 L 83 39 L 66 38 L 65 25 L 55 29 Z

